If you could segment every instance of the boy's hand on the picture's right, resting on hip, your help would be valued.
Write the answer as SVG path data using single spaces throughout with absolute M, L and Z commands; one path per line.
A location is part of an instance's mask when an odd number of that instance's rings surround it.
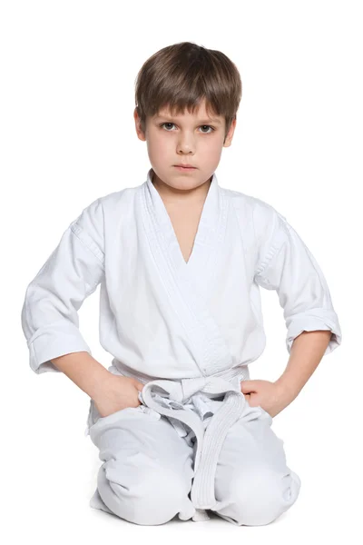
M 240 391 L 249 401 L 250 407 L 260 405 L 272 418 L 295 399 L 295 396 L 277 382 L 241 381 Z

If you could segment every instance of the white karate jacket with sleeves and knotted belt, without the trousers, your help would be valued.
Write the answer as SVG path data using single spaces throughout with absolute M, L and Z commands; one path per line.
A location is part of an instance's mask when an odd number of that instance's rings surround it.
M 260 286 L 278 292 L 288 352 L 303 331 L 330 330 L 326 354 L 341 343 L 318 263 L 270 204 L 221 188 L 215 173 L 185 263 L 150 169 L 142 185 L 89 204 L 27 287 L 22 325 L 34 372 L 59 372 L 53 358 L 91 353 L 77 311 L 100 283 L 109 371 L 142 381 L 142 410 L 196 438 L 191 500 L 200 513 L 218 506 L 211 468 L 246 411 L 240 381 L 265 348 Z M 86 433 L 92 413 L 91 401 Z

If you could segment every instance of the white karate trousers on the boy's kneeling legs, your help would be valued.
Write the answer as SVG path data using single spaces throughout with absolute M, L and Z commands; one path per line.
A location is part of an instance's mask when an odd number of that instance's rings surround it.
M 211 401 L 212 414 L 218 403 Z M 167 417 L 144 405 L 100 417 L 91 400 L 89 419 L 103 461 L 91 507 L 142 525 L 196 517 L 190 498 L 192 434 L 187 441 Z M 251 421 L 240 419 L 223 442 L 214 480 L 222 507 L 214 512 L 233 524 L 269 524 L 298 498 L 299 476 L 286 465 L 283 441 L 271 422 L 266 411 Z

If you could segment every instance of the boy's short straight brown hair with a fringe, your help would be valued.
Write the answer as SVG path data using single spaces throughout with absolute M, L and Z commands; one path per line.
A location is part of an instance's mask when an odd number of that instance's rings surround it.
M 242 95 L 240 73 L 228 56 L 191 42 L 168 45 L 152 54 L 135 83 L 143 133 L 146 116 L 158 114 L 163 107 L 172 114 L 182 114 L 185 108 L 194 113 L 205 98 L 209 115 L 224 116 L 226 137 Z

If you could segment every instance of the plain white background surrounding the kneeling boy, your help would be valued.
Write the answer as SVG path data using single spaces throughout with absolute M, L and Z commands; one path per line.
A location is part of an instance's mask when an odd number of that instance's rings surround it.
M 4 543 L 362 539 L 362 16 L 360 2 L 2 2 L 1 509 Z M 36 375 L 20 323 L 27 284 L 99 196 L 143 183 L 134 81 L 165 45 L 191 41 L 237 64 L 242 100 L 219 183 L 272 204 L 329 283 L 343 343 L 273 422 L 299 499 L 264 527 L 173 520 L 142 527 L 89 507 L 101 461 L 84 437 L 89 398 L 62 373 Z M 99 288 L 79 312 L 93 357 Z M 251 378 L 288 362 L 277 294 L 261 290 L 267 347 Z M 242 461 L 241 461 L 242 462 Z M 202 532 L 199 533 L 199 532 Z M 351 536 L 354 539 L 351 540 Z

